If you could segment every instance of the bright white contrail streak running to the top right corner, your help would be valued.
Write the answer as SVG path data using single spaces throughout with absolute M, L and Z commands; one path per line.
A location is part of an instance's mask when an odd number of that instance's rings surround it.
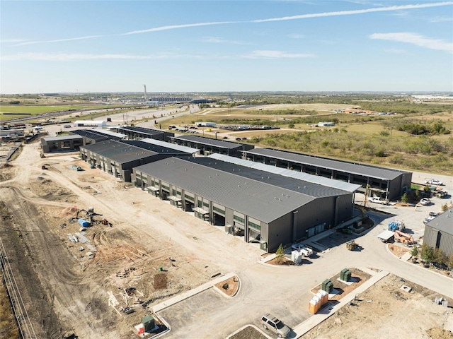
M 428 7 L 437 7 L 437 6 L 447 6 L 447 5 L 453 5 L 453 1 L 434 2 L 432 4 L 416 4 L 416 5 L 357 9 L 354 11 L 337 11 L 337 12 L 302 14 L 300 16 L 283 16 L 281 18 L 251 20 L 250 22 L 251 23 L 266 23 L 266 22 L 270 22 L 270 21 L 299 20 L 299 19 L 307 19 L 307 18 L 321 18 L 321 17 L 326 17 L 326 16 L 352 16 L 355 14 L 384 12 L 384 11 L 401 11 L 404 9 L 428 8 Z

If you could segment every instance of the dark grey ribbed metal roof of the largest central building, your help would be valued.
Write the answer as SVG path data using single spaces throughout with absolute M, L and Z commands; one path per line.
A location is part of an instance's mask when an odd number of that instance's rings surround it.
M 135 167 L 134 170 L 263 222 L 271 222 L 291 213 L 314 201 L 316 196 L 347 194 L 345 191 L 300 181 L 298 189 L 292 178 L 206 157 L 169 157 Z M 262 179 L 264 175 L 266 177 Z

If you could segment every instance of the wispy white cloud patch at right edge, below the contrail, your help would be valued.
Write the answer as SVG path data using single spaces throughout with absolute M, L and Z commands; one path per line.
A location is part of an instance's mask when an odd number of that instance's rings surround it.
M 369 36 L 371 39 L 378 40 L 391 40 L 396 42 L 406 42 L 408 44 L 415 44 L 418 47 L 424 47 L 428 49 L 437 49 L 440 51 L 453 53 L 453 43 L 446 42 L 445 40 L 432 39 L 430 37 L 424 37 L 411 32 L 400 32 L 400 33 L 374 33 Z

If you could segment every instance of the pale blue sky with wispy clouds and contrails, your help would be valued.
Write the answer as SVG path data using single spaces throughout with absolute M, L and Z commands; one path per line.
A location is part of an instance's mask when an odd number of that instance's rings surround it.
M 453 1 L 0 3 L 0 93 L 453 92 Z

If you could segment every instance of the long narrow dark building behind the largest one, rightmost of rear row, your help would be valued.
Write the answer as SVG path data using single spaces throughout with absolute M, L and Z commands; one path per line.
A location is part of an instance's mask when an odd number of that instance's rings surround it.
M 245 150 L 242 154 L 243 159 L 246 160 L 359 184 L 362 186 L 360 191 L 363 193 L 369 185 L 372 196 L 378 196 L 385 200 L 399 198 L 407 189 L 411 188 L 412 172 L 398 169 L 363 165 L 270 148 L 254 148 L 253 150 Z

